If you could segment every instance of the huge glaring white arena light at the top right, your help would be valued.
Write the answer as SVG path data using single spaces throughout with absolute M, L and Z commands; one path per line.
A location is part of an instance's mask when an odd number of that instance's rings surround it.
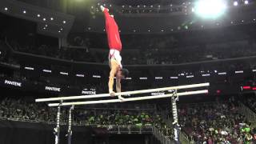
M 218 18 L 226 11 L 223 0 L 199 0 L 195 2 L 194 11 L 202 18 Z

